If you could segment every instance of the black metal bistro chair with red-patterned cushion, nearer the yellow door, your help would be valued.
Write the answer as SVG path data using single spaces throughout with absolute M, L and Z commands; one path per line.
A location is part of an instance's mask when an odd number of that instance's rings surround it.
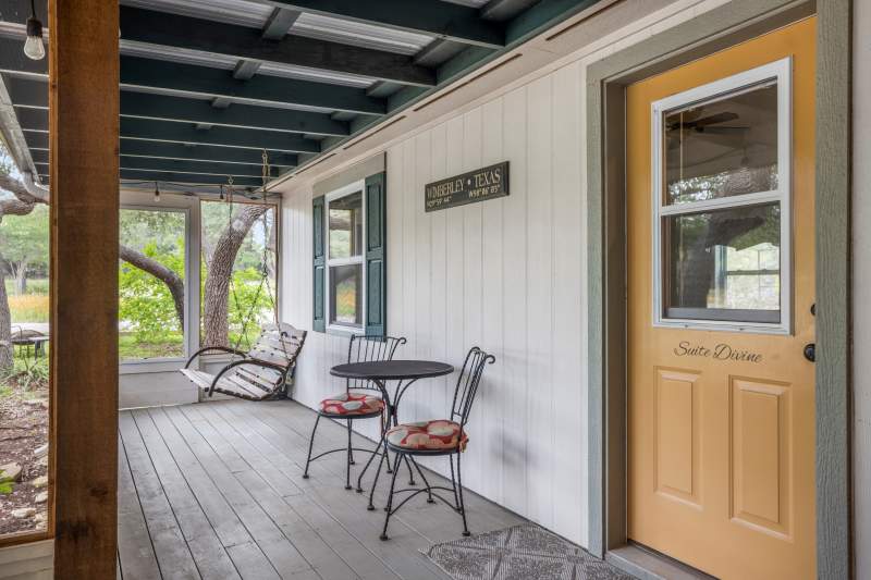
M 475 403 L 475 395 L 478 392 L 478 385 L 481 382 L 481 375 L 486 365 L 495 362 L 493 355 L 488 355 L 477 346 L 474 346 L 466 355 L 466 360 L 463 363 L 463 369 L 456 381 L 456 388 L 454 390 L 454 402 L 451 405 L 450 419 L 421 421 L 415 423 L 404 423 L 387 432 L 388 448 L 396 453 L 396 460 L 394 462 L 393 479 L 390 483 L 390 495 L 388 496 L 388 507 L 385 508 L 387 515 L 384 516 L 384 530 L 381 532 L 381 540 L 388 539 L 388 526 L 390 525 L 390 517 L 398 511 L 412 497 L 415 495 L 427 492 L 427 502 L 434 503 L 433 496 L 438 497 L 454 511 L 463 516 L 463 535 L 470 535 L 469 527 L 466 521 L 466 505 L 463 501 L 463 471 L 461 470 L 461 456 L 466 451 L 468 443 L 468 434 L 466 433 L 466 423 L 469 420 L 469 412 L 471 405 Z M 427 481 L 424 471 L 417 461 L 414 460 L 415 456 L 433 456 L 446 455 L 451 461 L 451 488 L 430 485 Z M 454 471 L 454 456 L 456 455 L 456 471 Z M 426 488 L 415 489 L 408 488 L 405 490 L 395 490 L 396 473 L 398 473 L 398 465 L 403 458 L 410 459 L 420 479 L 424 480 Z M 456 473 L 456 476 L 455 476 Z M 451 503 L 433 490 L 441 490 L 445 492 L 453 492 L 454 502 Z M 400 505 L 393 507 L 393 496 L 398 493 L 413 492 Z

